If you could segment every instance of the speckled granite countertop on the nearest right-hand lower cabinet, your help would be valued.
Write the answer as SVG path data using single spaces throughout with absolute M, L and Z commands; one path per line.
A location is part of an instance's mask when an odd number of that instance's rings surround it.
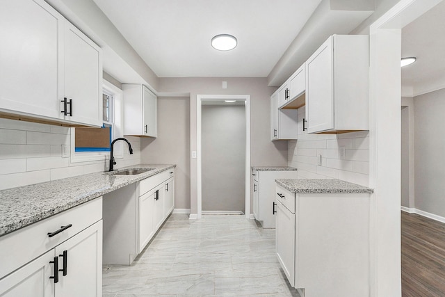
M 275 179 L 291 193 L 373 193 L 372 188 L 340 179 Z

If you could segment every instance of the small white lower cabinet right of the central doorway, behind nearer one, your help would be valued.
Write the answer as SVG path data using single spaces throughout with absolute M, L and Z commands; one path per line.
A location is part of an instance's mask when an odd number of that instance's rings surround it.
M 275 228 L 275 179 L 296 179 L 296 170 L 255 170 L 253 176 L 253 214 L 264 228 Z

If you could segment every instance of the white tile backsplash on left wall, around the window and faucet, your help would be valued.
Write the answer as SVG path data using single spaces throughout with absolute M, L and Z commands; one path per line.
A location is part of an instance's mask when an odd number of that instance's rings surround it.
M 62 155 L 70 133 L 68 127 L 0 118 L 0 190 L 104 171 L 106 160 L 72 163 L 70 152 Z M 140 138 L 125 137 L 133 154 L 124 150 L 119 167 L 140 163 Z

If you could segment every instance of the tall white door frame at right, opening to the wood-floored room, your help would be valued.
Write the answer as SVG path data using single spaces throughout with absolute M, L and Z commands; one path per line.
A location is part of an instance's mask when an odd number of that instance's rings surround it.
M 401 296 L 401 29 L 442 0 L 401 0 L 370 26 L 370 296 Z

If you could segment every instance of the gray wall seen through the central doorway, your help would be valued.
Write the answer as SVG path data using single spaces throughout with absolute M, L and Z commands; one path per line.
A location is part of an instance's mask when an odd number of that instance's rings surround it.
M 245 107 L 202 106 L 202 210 L 243 211 Z

